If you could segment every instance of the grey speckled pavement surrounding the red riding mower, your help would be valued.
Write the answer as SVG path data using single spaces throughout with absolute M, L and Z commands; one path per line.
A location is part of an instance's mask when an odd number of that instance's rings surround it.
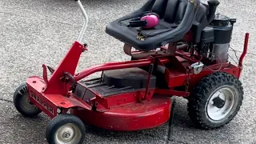
M 142 6 L 145 0 L 82 0 L 89 15 L 85 34 L 89 51 L 82 54 L 78 70 L 102 62 L 128 60 L 122 42 L 105 34 L 108 22 Z M 242 109 L 230 124 L 218 130 L 195 129 L 186 100 L 176 98 L 174 119 L 163 126 L 139 132 L 113 132 L 88 128 L 85 143 L 256 143 L 256 6 L 255 1 L 224 0 L 218 12 L 237 18 L 230 46 L 241 54 L 244 34 L 250 32 L 242 82 Z M 23 118 L 14 109 L 14 89 L 30 75 L 42 75 L 42 63 L 56 66 L 78 38 L 82 15 L 70 0 L 0 1 L 0 143 L 46 143 L 49 118 Z M 234 52 L 230 50 L 234 58 Z M 171 123 L 171 124 L 170 124 Z

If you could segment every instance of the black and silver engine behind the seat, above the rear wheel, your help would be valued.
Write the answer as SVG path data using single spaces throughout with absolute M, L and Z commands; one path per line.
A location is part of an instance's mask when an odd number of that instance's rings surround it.
M 203 58 L 217 63 L 228 61 L 232 30 L 236 19 L 216 14 L 213 22 L 202 30 L 198 52 Z

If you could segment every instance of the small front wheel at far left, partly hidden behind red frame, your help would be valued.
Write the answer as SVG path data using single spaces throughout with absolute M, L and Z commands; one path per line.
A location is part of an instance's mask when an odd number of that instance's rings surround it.
M 16 110 L 26 117 L 34 117 L 42 112 L 42 110 L 30 102 L 26 84 L 18 86 L 14 92 L 13 99 Z

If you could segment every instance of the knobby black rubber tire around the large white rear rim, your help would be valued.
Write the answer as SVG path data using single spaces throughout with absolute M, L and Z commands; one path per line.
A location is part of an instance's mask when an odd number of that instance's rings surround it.
M 210 94 L 214 87 L 224 84 L 233 85 L 238 89 L 238 106 L 236 107 L 236 110 L 234 110 L 234 113 L 230 115 L 227 122 L 223 123 L 222 125 L 214 125 L 206 122 L 206 119 L 203 116 L 203 114 L 205 114 L 204 110 L 202 109 L 204 107 L 203 103 L 206 103 L 207 94 Z M 243 94 L 242 82 L 240 82 L 238 78 L 224 72 L 210 74 L 209 76 L 202 78 L 202 80 L 198 82 L 198 85 L 194 87 L 194 90 L 191 91 L 190 98 L 188 99 L 189 102 L 187 104 L 188 115 L 191 121 L 194 122 L 195 126 L 198 126 L 199 128 L 205 130 L 217 129 L 228 124 L 238 113 L 240 106 L 242 106 Z

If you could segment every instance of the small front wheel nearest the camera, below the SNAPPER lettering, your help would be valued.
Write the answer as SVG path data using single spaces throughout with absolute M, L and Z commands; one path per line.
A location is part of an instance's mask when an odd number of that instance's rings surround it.
M 50 144 L 82 144 L 85 137 L 85 125 L 80 118 L 71 114 L 56 116 L 46 129 L 46 139 Z

